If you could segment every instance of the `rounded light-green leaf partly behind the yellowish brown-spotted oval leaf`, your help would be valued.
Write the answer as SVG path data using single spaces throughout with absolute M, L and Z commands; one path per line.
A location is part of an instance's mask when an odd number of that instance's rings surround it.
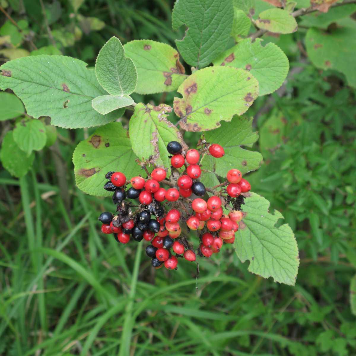
M 262 46 L 261 38 L 240 41 L 235 47 L 223 52 L 214 60 L 214 65 L 229 66 L 248 70 L 257 80 L 259 95 L 277 90 L 286 79 L 289 62 L 287 56 L 272 42 Z

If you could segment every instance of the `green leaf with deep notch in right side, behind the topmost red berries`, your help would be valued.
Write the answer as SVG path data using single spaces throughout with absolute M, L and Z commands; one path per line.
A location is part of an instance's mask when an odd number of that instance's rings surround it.
M 219 129 L 205 132 L 204 136 L 207 142 L 224 147 L 225 155 L 215 163 L 215 173 L 219 176 L 225 178 L 226 172 L 232 168 L 245 174 L 260 167 L 261 153 L 241 147 L 251 147 L 258 139 L 257 132 L 252 132 L 252 118 L 234 116 L 231 122 L 223 122 Z

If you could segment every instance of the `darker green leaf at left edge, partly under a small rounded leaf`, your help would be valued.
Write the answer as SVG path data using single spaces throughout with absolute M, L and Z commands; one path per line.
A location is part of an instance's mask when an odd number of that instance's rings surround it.
M 12 176 L 21 178 L 25 176 L 28 169 L 32 166 L 35 154 L 32 152 L 30 157 L 20 150 L 17 146 L 12 131 L 6 133 L 2 140 L 0 159 L 4 168 L 9 171 Z

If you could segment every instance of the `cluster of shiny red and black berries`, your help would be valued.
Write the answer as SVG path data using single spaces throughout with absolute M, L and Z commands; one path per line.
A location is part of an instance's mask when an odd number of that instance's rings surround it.
M 114 192 L 112 201 L 116 204 L 117 214 L 114 216 L 105 211 L 99 220 L 101 231 L 113 233 L 116 241 L 122 244 L 129 242 L 131 237 L 135 241 L 149 241 L 146 254 L 152 258 L 153 267 L 161 268 L 164 264 L 167 269 L 176 269 L 177 257 L 196 260 L 194 247 L 186 238 L 190 230 L 199 232 L 200 243 L 196 252 L 201 257 L 219 252 L 223 242 L 234 242 L 238 222 L 243 217 L 241 204 L 244 204 L 244 197 L 241 193 L 248 192 L 251 187 L 238 169 L 230 169 L 227 180 L 215 187 L 206 188 L 199 181 L 201 156 L 224 156 L 224 148 L 218 144 L 209 145 L 202 141 L 200 151 L 190 149 L 185 152 L 179 142 L 172 141 L 167 150 L 172 155 L 169 179 L 166 179 L 164 168 L 156 167 L 149 173 L 145 164 L 141 166 L 147 173 L 146 179 L 137 176 L 127 180 L 121 172 L 105 175 L 108 182 L 104 189 Z M 131 187 L 127 189 L 129 184 Z M 213 195 L 205 200 L 206 191 Z M 132 201 L 136 199 L 138 205 Z M 226 215 L 223 207 L 228 209 L 228 205 L 232 209 Z M 185 223 L 183 231 L 179 221 Z

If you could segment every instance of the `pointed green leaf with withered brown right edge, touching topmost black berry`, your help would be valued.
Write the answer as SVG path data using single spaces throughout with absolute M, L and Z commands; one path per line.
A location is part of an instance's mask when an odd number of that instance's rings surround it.
M 170 141 L 183 143 L 176 126 L 167 119 L 172 108 L 165 104 L 153 106 L 139 103 L 130 118 L 130 141 L 133 152 L 142 160 L 150 159 L 152 164 L 165 167 L 170 172 L 171 162 L 167 144 Z M 150 158 L 151 157 L 151 158 Z

